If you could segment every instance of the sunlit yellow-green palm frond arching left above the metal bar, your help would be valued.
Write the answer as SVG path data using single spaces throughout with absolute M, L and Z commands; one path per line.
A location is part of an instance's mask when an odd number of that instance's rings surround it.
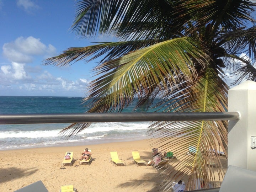
M 141 90 L 164 84 L 166 78 L 170 84 L 181 77 L 193 82 L 197 72 L 191 57 L 202 66 L 205 60 L 204 53 L 188 40 L 183 37 L 157 43 L 99 65 L 97 73 L 104 75 L 92 81 L 93 92 L 88 98 L 105 98 L 116 107 L 119 98 L 133 99 L 134 92 L 141 95 Z

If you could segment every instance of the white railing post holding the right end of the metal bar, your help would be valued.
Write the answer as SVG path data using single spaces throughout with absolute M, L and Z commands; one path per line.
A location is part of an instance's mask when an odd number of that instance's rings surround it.
M 228 111 L 240 113 L 238 121 L 228 123 L 228 165 L 256 171 L 256 148 L 251 148 L 251 137 L 256 137 L 256 82 L 228 91 Z

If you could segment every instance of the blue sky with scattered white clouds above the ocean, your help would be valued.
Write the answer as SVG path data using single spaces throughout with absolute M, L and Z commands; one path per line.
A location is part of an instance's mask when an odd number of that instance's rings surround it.
M 75 11 L 75 0 L 0 0 L 0 96 L 88 95 L 96 61 L 43 65 L 69 47 L 114 41 L 76 37 L 70 30 Z

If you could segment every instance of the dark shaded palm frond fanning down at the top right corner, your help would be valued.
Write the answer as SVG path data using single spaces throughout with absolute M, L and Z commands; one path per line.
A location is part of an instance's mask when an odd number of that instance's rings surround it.
M 214 34 L 220 26 L 226 30 L 234 30 L 245 26 L 242 21 L 253 22 L 250 12 L 255 6 L 250 0 L 182 0 L 177 4 L 176 11 L 180 12 L 181 20 L 189 16 L 191 21 L 197 23 L 198 29 L 212 23 L 210 30 Z

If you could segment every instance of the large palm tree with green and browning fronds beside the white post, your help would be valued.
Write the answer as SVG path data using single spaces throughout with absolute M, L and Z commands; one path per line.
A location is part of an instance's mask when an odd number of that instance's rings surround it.
M 118 41 L 68 48 L 44 64 L 101 58 L 86 98 L 93 100 L 90 113 L 121 112 L 134 98 L 136 108 L 146 112 L 156 97 L 162 98 L 161 112 L 223 112 L 229 89 L 224 69 L 238 75 L 234 83 L 256 80 L 256 27 L 250 16 L 255 6 L 250 0 L 79 0 L 73 32 L 114 35 Z M 70 137 L 89 126 L 74 123 L 63 132 Z M 227 121 L 154 122 L 149 134 L 181 160 L 166 170 L 165 190 L 185 175 L 187 190 L 198 179 L 205 188 L 209 182 L 215 187 L 210 162 L 217 165 L 218 179 L 224 177 L 219 156 L 209 149 L 220 146 L 226 153 Z M 182 155 L 190 146 L 195 155 Z

